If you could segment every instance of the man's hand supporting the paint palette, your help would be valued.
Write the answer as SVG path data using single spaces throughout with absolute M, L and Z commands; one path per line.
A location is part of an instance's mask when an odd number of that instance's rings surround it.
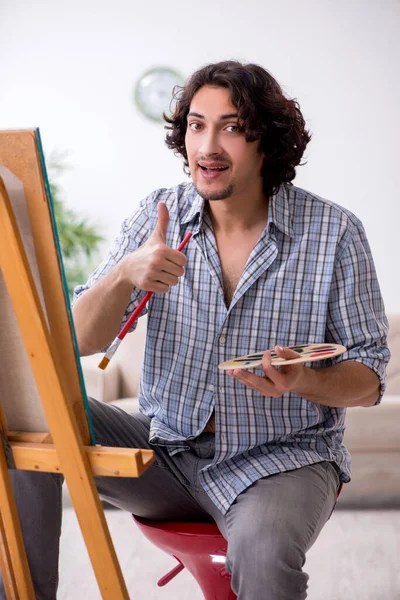
M 281 346 L 275 346 L 274 351 L 279 357 L 286 359 L 300 358 L 301 356 L 298 352 L 289 348 L 282 348 Z M 270 350 L 264 352 L 261 366 L 264 376 L 254 375 L 254 373 L 244 369 L 233 369 L 232 371 L 227 371 L 227 374 L 264 396 L 279 398 L 285 392 L 293 392 L 301 387 L 301 382 L 307 371 L 302 363 L 287 366 L 282 365 L 279 368 L 273 367 Z

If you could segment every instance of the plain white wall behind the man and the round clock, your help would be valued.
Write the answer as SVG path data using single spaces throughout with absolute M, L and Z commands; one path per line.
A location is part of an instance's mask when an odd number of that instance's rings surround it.
M 295 183 L 363 220 L 399 312 L 399 31 L 399 0 L 1 0 L 0 128 L 39 126 L 46 153 L 69 151 L 64 196 L 111 240 L 143 196 L 185 178 L 133 105 L 138 76 L 258 62 L 314 134 Z

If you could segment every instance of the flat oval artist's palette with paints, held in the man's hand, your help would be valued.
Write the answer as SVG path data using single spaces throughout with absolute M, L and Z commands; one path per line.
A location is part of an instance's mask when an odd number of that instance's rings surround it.
M 286 360 L 280 358 L 271 350 L 272 364 L 274 366 L 295 365 L 314 360 L 324 360 L 325 358 L 333 358 L 346 352 L 346 348 L 340 344 L 300 344 L 298 346 L 289 346 L 289 348 L 300 354 L 300 356 Z M 224 371 L 229 371 L 230 369 L 254 369 L 261 365 L 263 354 L 264 352 L 254 352 L 246 356 L 238 356 L 232 360 L 220 363 L 218 368 Z

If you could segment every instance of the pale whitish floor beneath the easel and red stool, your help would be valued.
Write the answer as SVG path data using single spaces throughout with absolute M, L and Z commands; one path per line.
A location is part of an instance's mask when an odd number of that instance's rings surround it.
M 203 600 L 191 575 L 164 588 L 157 579 L 174 565 L 150 544 L 127 513 L 106 509 L 132 600 Z M 400 600 L 400 510 L 337 510 L 308 553 L 308 600 Z M 79 526 L 65 502 L 59 600 L 100 600 Z M 264 599 L 254 599 L 264 600 Z

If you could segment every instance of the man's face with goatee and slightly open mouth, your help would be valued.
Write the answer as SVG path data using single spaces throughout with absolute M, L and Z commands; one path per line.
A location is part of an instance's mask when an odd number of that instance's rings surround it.
M 259 144 L 246 142 L 228 89 L 204 86 L 193 96 L 185 146 L 193 183 L 206 200 L 262 190 Z

